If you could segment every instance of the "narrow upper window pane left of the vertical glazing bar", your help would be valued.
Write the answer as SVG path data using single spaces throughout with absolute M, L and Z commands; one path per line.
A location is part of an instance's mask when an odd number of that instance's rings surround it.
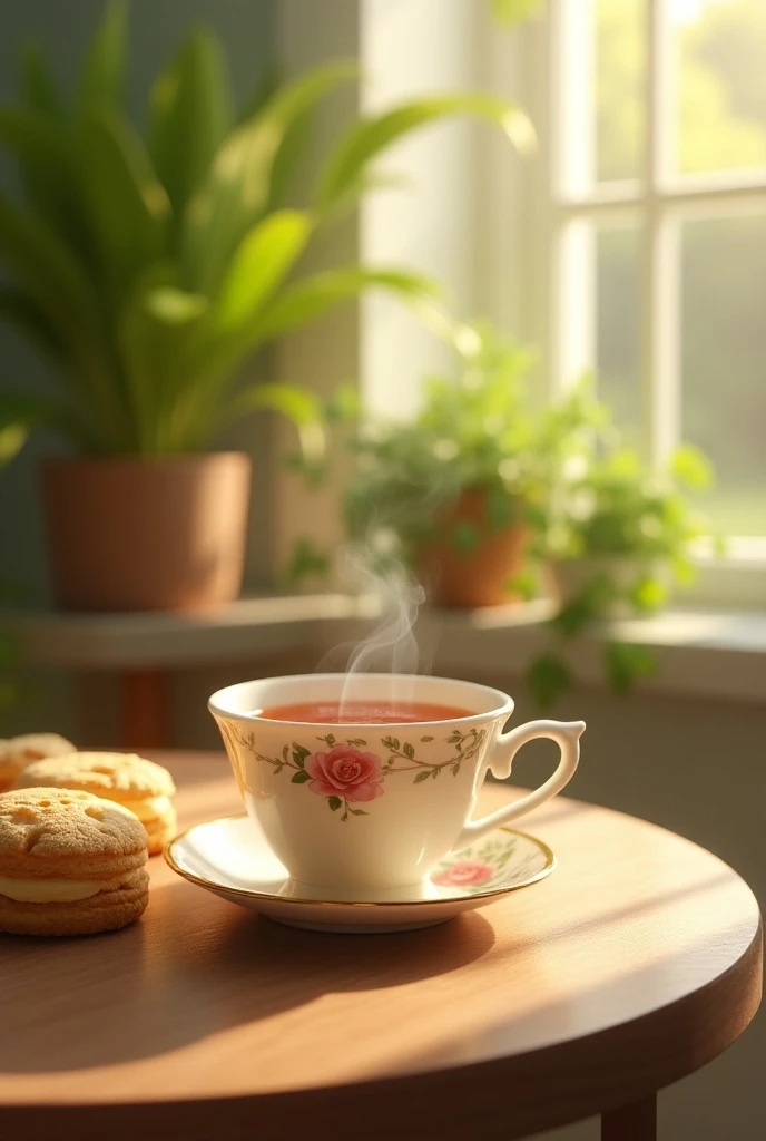
M 644 155 L 645 0 L 596 0 L 596 179 L 638 178 Z

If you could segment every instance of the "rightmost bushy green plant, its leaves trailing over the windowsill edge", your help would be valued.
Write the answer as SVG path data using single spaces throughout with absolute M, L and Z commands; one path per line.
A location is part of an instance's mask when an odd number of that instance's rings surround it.
M 589 448 L 568 458 L 544 544 L 560 604 L 551 632 L 562 646 L 604 621 L 651 614 L 666 605 L 674 584 L 693 581 L 693 544 L 709 528 L 690 493 L 711 479 L 711 466 L 698 448 L 682 445 L 655 471 L 614 432 L 600 434 Z M 655 669 L 647 647 L 610 638 L 603 662 L 617 693 Z M 555 650 L 540 655 L 529 671 L 544 706 L 572 680 L 565 655 Z

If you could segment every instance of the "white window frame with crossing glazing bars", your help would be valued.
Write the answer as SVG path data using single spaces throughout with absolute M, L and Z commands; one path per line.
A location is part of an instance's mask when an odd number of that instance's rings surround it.
M 487 308 L 539 346 L 540 379 L 551 395 L 565 390 L 595 365 L 595 258 L 588 250 L 595 226 L 588 224 L 642 224 L 642 397 L 646 454 L 655 463 L 681 438 L 681 224 L 766 211 L 766 169 L 674 171 L 669 3 L 645 0 L 646 120 L 635 180 L 592 181 L 595 0 L 548 0 L 544 18 L 512 34 L 484 19 L 481 49 L 483 74 L 527 107 L 540 144 L 531 164 L 504 170 L 496 141 L 488 140 Z M 698 563 L 700 582 L 685 596 L 690 600 L 766 605 L 766 539 L 733 537 L 725 563 L 701 544 Z

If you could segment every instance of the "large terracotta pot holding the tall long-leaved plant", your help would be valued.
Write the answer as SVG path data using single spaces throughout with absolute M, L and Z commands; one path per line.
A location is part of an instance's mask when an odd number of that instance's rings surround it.
M 43 469 L 57 602 L 185 610 L 239 593 L 250 458 L 64 460 Z

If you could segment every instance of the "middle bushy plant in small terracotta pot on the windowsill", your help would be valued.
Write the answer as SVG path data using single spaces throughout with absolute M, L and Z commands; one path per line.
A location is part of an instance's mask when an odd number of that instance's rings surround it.
M 380 549 L 393 536 L 447 607 L 529 594 L 552 475 L 595 407 L 586 393 L 543 406 L 532 354 L 489 325 L 468 331 L 458 374 L 430 380 L 411 421 L 362 418 L 344 504 L 350 537 Z

